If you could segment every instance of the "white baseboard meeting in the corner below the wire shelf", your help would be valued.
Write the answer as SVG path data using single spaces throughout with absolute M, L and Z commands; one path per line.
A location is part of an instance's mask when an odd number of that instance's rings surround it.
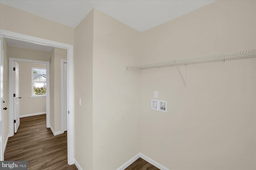
M 146 160 L 147 162 L 149 162 L 150 164 L 156 166 L 156 168 L 159 168 L 160 170 L 169 170 L 168 168 L 162 166 L 161 164 L 159 164 L 158 162 L 154 161 L 153 159 L 149 158 L 148 156 L 142 154 L 142 153 L 138 153 L 136 154 L 134 157 L 132 157 L 130 160 L 128 160 L 127 162 L 125 162 L 122 166 L 120 166 L 119 168 L 117 168 L 116 170 L 124 170 L 125 168 L 127 168 L 130 164 L 132 164 L 135 160 L 137 160 L 138 158 L 142 158 L 144 160 Z M 78 168 L 79 169 L 79 168 Z

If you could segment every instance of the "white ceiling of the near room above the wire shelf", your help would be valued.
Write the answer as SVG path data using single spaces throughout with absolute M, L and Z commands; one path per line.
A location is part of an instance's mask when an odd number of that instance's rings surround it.
M 214 1 L 1 0 L 1 3 L 70 27 L 76 27 L 92 8 L 96 8 L 142 32 Z

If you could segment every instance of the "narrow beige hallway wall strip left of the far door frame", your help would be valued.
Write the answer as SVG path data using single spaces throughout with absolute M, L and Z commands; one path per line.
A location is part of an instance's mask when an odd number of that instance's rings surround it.
M 6 39 L 3 38 L 3 49 L 4 49 L 4 105 L 3 107 L 9 108 L 9 59 L 7 55 L 8 44 Z M 4 143 L 6 141 L 7 135 L 9 134 L 9 109 L 3 110 L 4 113 Z

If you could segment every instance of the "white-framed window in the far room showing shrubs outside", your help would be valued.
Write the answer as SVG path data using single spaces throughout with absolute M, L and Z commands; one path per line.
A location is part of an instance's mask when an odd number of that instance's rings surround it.
M 32 68 L 32 96 L 46 95 L 46 68 Z

